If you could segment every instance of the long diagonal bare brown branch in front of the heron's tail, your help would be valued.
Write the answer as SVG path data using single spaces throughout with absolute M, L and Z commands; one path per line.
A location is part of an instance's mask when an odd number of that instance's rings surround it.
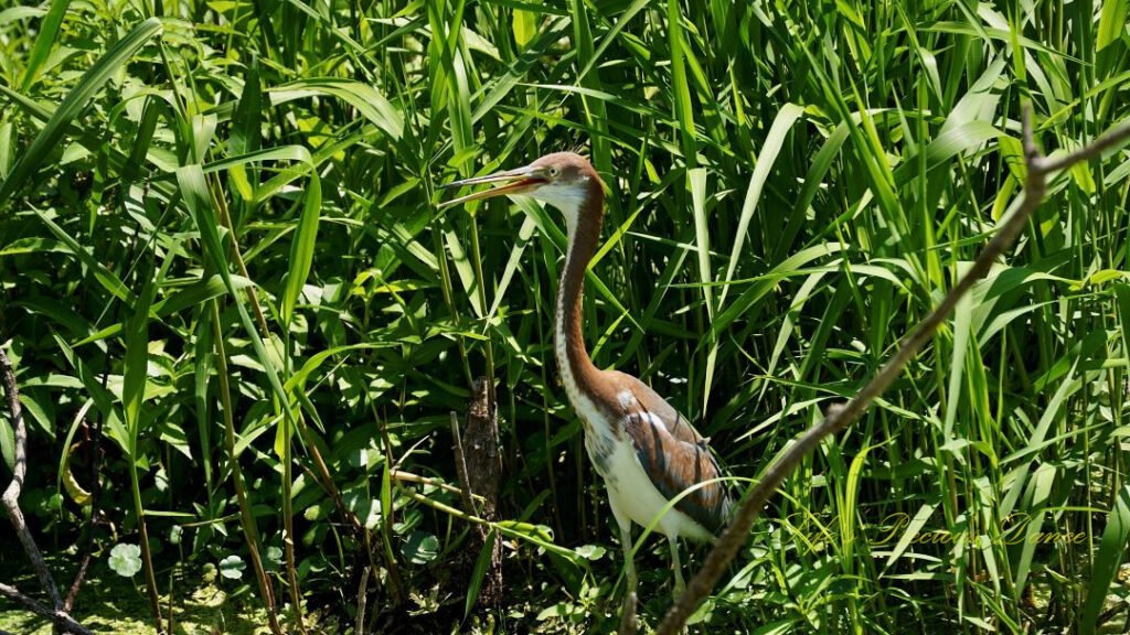
M 957 302 L 973 287 L 974 282 L 983 278 L 992 268 L 993 262 L 1005 254 L 1009 245 L 1024 229 L 1028 217 L 1040 207 L 1046 193 L 1046 176 L 1059 169 L 1069 167 L 1080 160 L 1087 160 L 1099 156 L 1103 150 L 1112 148 L 1118 143 L 1130 139 L 1130 123 L 1124 123 L 1115 128 L 1103 138 L 1080 148 L 1075 153 L 1069 153 L 1061 157 L 1049 159 L 1036 147 L 1032 134 L 1032 108 L 1025 104 L 1023 112 L 1024 129 L 1024 158 L 1027 164 L 1028 174 L 1024 183 L 1024 200 L 1016 211 L 1005 221 L 997 232 L 997 235 L 989 241 L 984 250 L 977 254 L 976 260 L 970 270 L 958 280 L 942 298 L 941 304 L 925 318 L 918 328 L 905 338 L 898 347 L 898 351 L 892 357 L 873 377 L 855 394 L 846 405 L 837 405 L 829 408 L 824 419 L 809 428 L 796 443 L 776 460 L 765 475 L 754 487 L 753 492 L 741 504 L 730 525 L 722 533 L 718 545 L 706 556 L 698 574 L 687 585 L 686 591 L 671 606 L 659 625 L 658 635 L 675 635 L 686 624 L 687 618 L 698 608 L 698 604 L 706 598 L 725 566 L 730 564 L 738 550 L 746 542 L 749 530 L 753 529 L 762 507 L 784 479 L 792 473 L 792 470 L 811 454 L 816 447 L 828 436 L 844 429 L 852 421 L 859 418 L 871 401 L 881 394 L 894 382 L 906 367 L 906 364 L 918 354 L 919 349 L 929 341 L 938 327 L 949 318 Z

